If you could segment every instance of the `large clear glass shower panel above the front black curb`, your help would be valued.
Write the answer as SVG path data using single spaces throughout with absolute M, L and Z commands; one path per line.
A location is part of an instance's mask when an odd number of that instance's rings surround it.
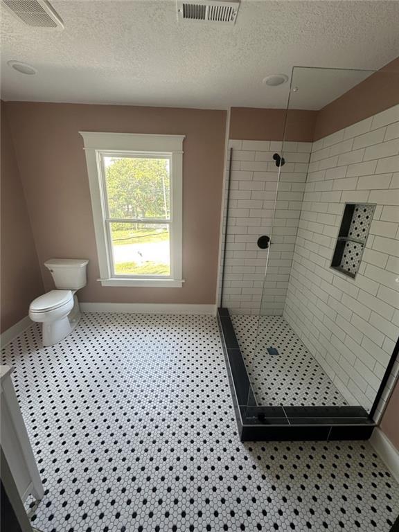
M 398 330 L 399 272 L 380 254 L 389 235 L 398 248 L 391 83 L 398 73 L 293 69 L 284 140 L 270 143 L 276 197 L 246 361 L 258 405 L 370 411 L 375 401 Z

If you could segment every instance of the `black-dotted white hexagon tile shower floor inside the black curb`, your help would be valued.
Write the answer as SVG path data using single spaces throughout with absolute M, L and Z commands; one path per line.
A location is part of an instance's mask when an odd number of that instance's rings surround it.
M 233 315 L 231 321 L 258 405 L 348 404 L 282 316 Z M 279 354 L 270 355 L 270 347 Z

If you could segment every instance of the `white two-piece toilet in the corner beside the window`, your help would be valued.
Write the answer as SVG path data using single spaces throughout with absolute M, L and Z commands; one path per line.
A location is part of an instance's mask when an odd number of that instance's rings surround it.
M 57 290 L 50 290 L 29 305 L 30 319 L 43 323 L 44 346 L 61 342 L 78 325 L 80 308 L 76 291 L 86 286 L 87 263 L 89 260 L 80 258 L 51 258 L 44 263 Z

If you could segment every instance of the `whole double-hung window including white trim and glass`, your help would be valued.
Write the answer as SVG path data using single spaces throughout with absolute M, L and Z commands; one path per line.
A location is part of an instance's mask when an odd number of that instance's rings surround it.
M 80 132 L 103 286 L 181 287 L 181 135 Z

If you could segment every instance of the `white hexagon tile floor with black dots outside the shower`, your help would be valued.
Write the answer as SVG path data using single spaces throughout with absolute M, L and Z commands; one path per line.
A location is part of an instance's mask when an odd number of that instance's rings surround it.
M 399 486 L 368 443 L 240 443 L 207 316 L 84 314 L 3 352 L 45 488 L 44 532 L 378 531 Z

